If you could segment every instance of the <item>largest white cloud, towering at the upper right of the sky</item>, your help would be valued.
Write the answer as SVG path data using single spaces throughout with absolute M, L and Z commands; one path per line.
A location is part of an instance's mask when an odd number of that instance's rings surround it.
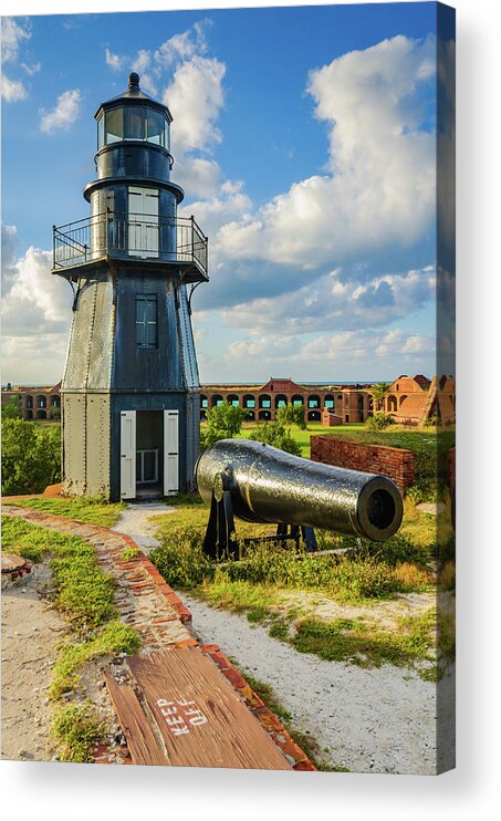
M 434 54 L 431 39 L 396 37 L 311 72 L 315 116 L 330 128 L 327 174 L 222 227 L 221 251 L 317 270 L 421 239 L 435 216 L 435 135 L 422 105 Z

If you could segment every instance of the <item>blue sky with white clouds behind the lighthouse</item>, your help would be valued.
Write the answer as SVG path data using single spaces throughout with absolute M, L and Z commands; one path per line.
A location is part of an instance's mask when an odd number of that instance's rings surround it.
M 93 114 L 132 69 L 209 235 L 201 380 L 434 373 L 435 3 L 2 22 L 3 382 L 62 375 L 52 224 L 87 216 Z

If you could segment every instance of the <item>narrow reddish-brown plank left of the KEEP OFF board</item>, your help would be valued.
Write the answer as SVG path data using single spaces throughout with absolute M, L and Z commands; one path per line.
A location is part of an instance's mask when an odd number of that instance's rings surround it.
M 127 739 L 133 762 L 139 765 L 169 765 L 170 761 L 155 738 L 143 707 L 131 685 L 118 685 L 106 669 L 104 671 L 104 678 L 119 725 Z

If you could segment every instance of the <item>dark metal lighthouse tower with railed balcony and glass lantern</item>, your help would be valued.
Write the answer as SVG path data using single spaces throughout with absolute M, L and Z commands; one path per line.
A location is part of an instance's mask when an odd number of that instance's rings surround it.
M 159 498 L 194 487 L 200 386 L 190 298 L 208 281 L 208 239 L 177 214 L 173 116 L 136 73 L 95 119 L 91 216 L 53 228 L 52 273 L 73 289 L 63 492 Z

